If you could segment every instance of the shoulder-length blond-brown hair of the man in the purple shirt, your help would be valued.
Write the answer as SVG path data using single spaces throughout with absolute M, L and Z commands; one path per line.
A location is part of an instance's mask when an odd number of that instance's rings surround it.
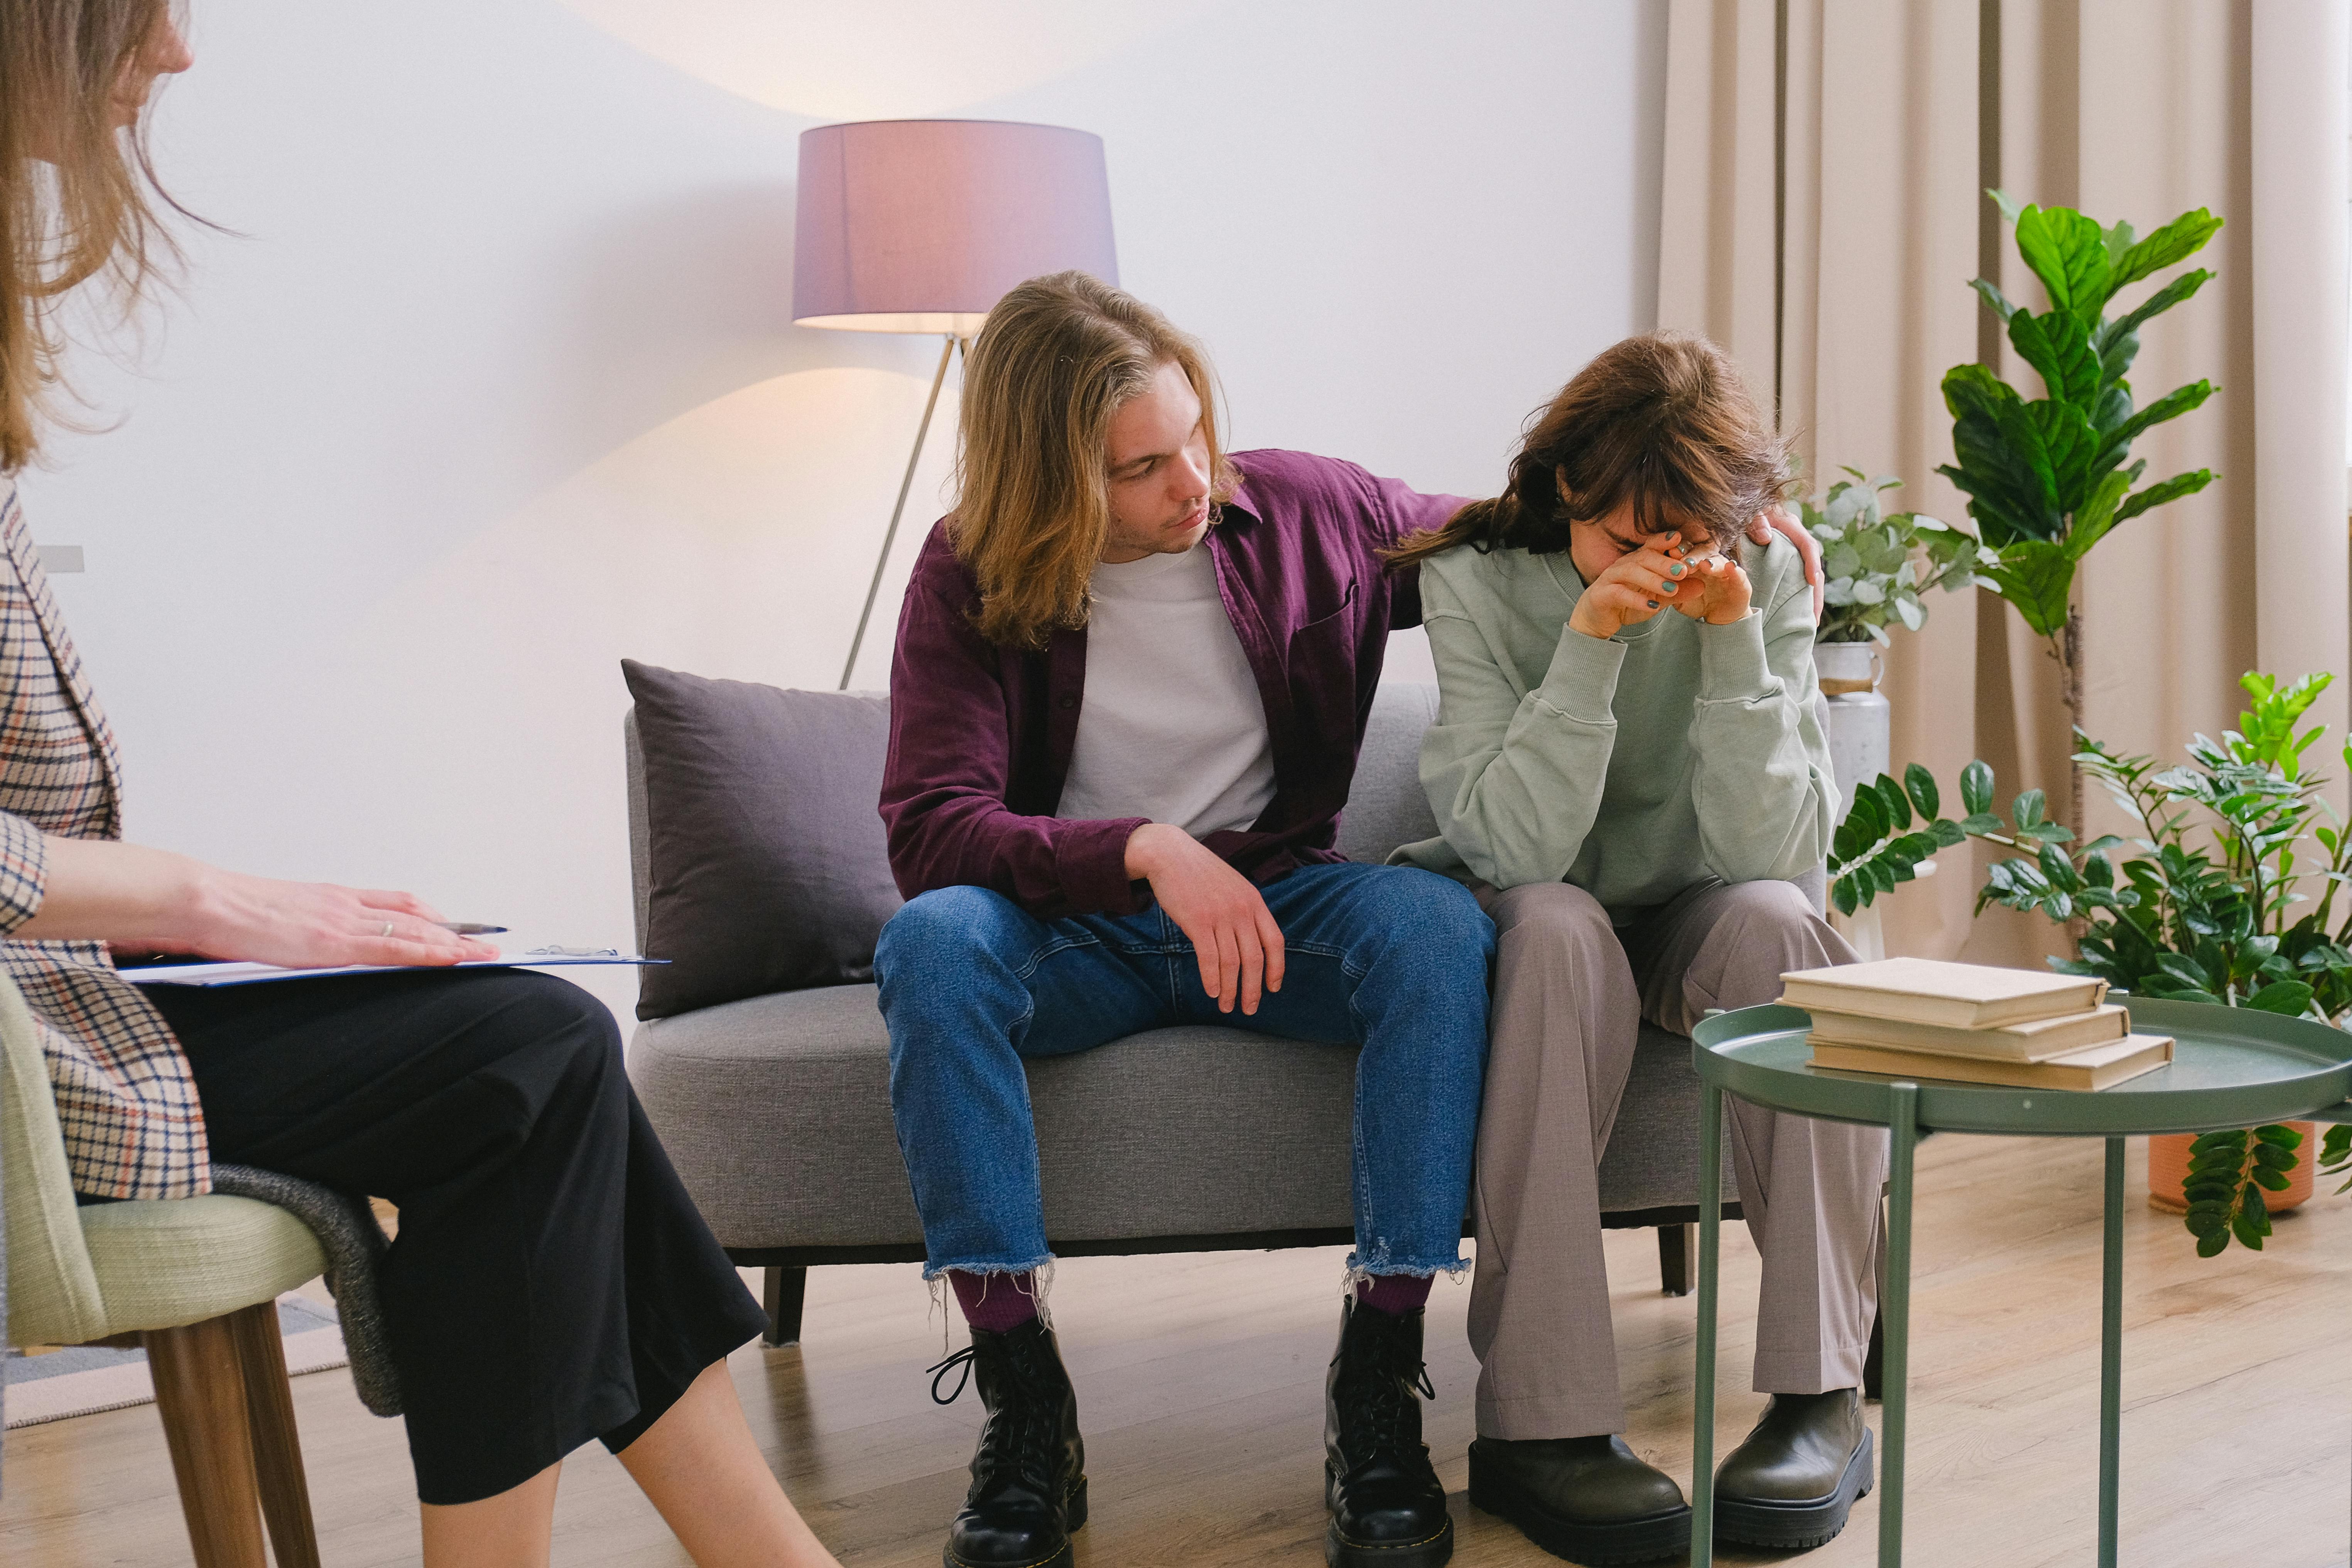
M 1183 369 L 1209 442 L 1209 503 L 1232 496 L 1216 383 L 1200 343 L 1087 273 L 1030 277 L 988 313 L 964 364 L 955 555 L 981 585 L 990 642 L 1037 649 L 1087 623 L 1087 583 L 1110 529 L 1110 416 L 1162 364 Z

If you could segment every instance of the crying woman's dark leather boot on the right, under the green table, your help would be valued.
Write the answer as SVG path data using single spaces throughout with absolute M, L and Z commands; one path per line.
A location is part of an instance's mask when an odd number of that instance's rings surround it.
M 1715 1472 L 1715 1533 L 1750 1547 L 1818 1547 L 1870 1493 L 1870 1422 L 1858 1389 L 1773 1394 Z

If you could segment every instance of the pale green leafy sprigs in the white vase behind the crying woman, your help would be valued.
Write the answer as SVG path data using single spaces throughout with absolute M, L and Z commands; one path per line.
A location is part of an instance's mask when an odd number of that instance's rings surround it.
M 1889 623 L 1915 632 L 1926 625 L 1919 602 L 1926 590 L 1959 592 L 1976 583 L 1976 538 L 1926 512 L 1884 510 L 1879 496 L 1900 489 L 1903 480 L 1867 480 L 1860 468 L 1844 473 L 1853 477 L 1832 484 L 1818 505 L 1797 503 L 1804 531 L 1820 543 L 1828 578 L 1813 642 L 1886 644 Z

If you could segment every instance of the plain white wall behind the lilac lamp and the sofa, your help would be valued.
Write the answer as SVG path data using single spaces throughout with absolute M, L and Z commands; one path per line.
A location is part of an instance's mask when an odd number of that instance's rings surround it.
M 938 348 L 790 324 L 809 125 L 1101 132 L 1237 447 L 1491 494 L 1653 317 L 1663 0 L 880 9 L 198 0 L 155 143 L 238 235 L 24 482 L 132 837 L 630 940 L 614 661 L 830 689 Z

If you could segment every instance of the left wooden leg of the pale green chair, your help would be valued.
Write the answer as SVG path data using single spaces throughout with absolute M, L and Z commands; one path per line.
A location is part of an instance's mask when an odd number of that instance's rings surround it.
M 195 1568 L 266 1568 L 254 1439 L 226 1316 L 146 1333 Z

